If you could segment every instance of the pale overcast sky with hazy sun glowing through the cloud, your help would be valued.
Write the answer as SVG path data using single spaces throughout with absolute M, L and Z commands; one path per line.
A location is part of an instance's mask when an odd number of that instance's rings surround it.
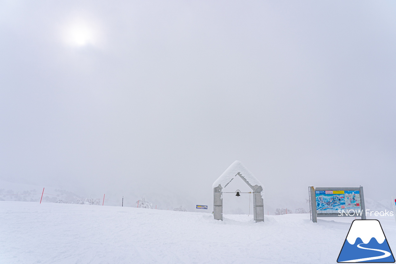
M 0 178 L 192 208 L 211 206 L 240 160 L 268 208 L 305 206 L 310 185 L 389 199 L 395 13 L 394 1 L 1 1 Z

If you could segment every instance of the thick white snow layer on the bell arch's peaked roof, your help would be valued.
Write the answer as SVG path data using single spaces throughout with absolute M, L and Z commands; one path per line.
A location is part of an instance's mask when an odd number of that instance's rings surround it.
M 242 164 L 242 162 L 240 161 L 234 161 L 228 168 L 227 170 L 225 170 L 223 172 L 223 174 L 220 175 L 219 178 L 217 178 L 217 180 L 215 180 L 215 182 L 213 182 L 212 188 L 215 188 L 217 186 L 220 186 L 222 188 L 224 188 L 225 186 L 227 186 L 227 184 L 236 176 L 238 176 L 238 172 L 240 172 L 240 174 L 242 174 L 242 176 L 246 179 L 247 182 L 249 182 L 249 184 L 251 186 L 261 186 L 263 188 L 264 191 L 264 186 L 263 184 L 261 184 L 261 182 L 259 180 L 257 180 L 257 178 L 253 175 L 253 173 L 251 173 L 246 167 L 245 165 Z M 263 194 L 263 191 L 261 192 Z

